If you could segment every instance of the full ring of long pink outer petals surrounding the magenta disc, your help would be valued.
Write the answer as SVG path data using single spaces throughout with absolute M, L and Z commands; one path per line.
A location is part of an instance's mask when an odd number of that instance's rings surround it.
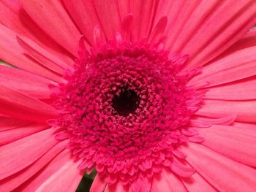
M 0 9 L 0 59 L 18 68 L 0 66 L 0 191 L 75 191 L 80 161 L 46 123 L 58 115 L 48 85 L 65 82 L 83 39 L 87 54 L 122 38 L 203 66 L 188 83 L 204 96 L 186 132 L 202 143 L 176 151 L 196 169 L 188 178 L 162 168 L 108 185 L 97 174 L 91 191 L 255 191 L 256 1 L 4 0 Z

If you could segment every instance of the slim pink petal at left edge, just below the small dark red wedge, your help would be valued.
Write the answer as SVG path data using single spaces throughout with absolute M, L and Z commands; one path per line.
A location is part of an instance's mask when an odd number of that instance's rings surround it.
M 11 130 L 1 131 L 0 146 L 14 142 L 18 139 L 37 133 L 46 128 L 49 128 L 49 126 L 46 124 L 31 123 L 26 126 L 19 126 L 18 128 L 12 128 Z

